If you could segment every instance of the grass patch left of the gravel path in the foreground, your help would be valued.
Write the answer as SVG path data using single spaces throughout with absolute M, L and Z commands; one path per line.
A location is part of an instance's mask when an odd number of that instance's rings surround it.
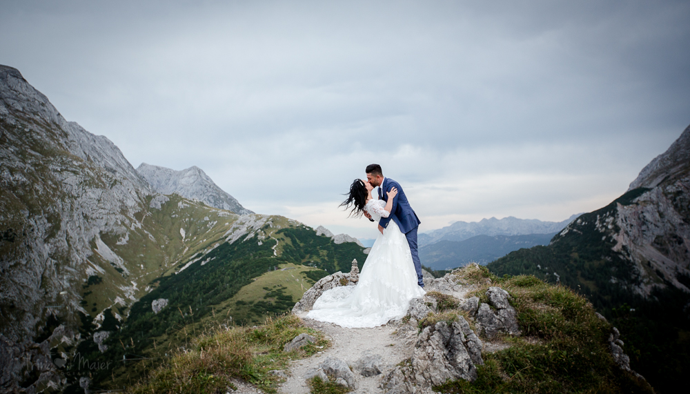
M 317 344 L 284 353 L 283 346 L 301 333 L 317 337 Z M 219 328 L 201 335 L 184 351 L 177 351 L 156 368 L 148 380 L 132 387 L 132 393 L 224 393 L 230 378 L 255 384 L 275 393 L 279 377 L 268 373 L 286 368 L 291 358 L 315 353 L 316 346 L 328 346 L 320 333 L 302 325 L 299 317 L 284 315 L 254 328 Z M 311 346 L 311 348 L 309 348 Z

